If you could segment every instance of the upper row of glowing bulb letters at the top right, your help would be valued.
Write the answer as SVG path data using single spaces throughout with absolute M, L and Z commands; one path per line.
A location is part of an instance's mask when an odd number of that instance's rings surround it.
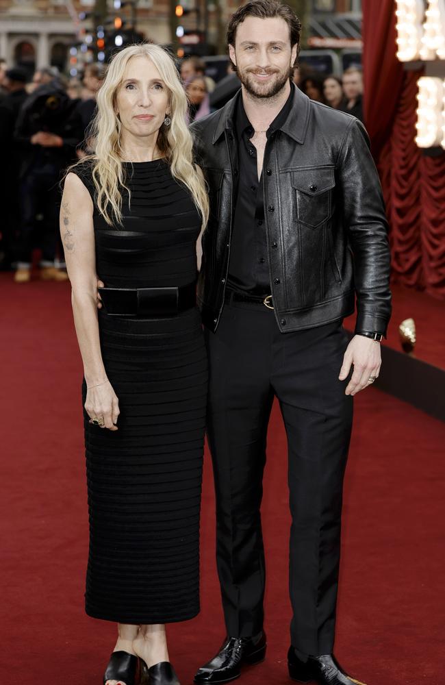
M 397 57 L 401 62 L 445 60 L 445 0 L 396 0 Z

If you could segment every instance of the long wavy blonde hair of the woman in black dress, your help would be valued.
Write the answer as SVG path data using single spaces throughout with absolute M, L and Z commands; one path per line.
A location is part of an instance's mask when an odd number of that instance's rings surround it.
M 121 123 L 116 114 L 116 95 L 127 63 L 131 58 L 141 56 L 153 62 L 169 95 L 171 123 L 169 126 L 162 124 L 157 148 L 166 158 L 173 177 L 190 190 L 204 227 L 209 214 L 209 200 L 201 169 L 193 162 L 192 136 L 186 125 L 186 93 L 175 62 L 160 45 L 154 43 L 130 45 L 116 53 L 97 93 L 97 115 L 90 128 L 94 154 L 89 157 L 94 162 L 92 178 L 97 190 L 97 207 L 109 225 L 122 223 L 121 189 L 127 190 L 129 199 L 130 191 L 125 185 L 125 169 L 120 156 Z

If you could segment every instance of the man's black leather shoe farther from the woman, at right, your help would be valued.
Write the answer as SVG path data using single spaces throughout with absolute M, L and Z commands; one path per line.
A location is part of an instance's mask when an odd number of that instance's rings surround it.
M 333 654 L 309 656 L 302 661 L 293 647 L 288 652 L 289 675 L 300 683 L 316 682 L 318 685 L 366 685 L 349 677 Z

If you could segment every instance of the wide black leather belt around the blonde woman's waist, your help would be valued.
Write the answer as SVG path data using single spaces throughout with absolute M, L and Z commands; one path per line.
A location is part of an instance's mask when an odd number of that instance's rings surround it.
M 196 283 L 168 288 L 99 288 L 110 316 L 175 316 L 196 306 Z

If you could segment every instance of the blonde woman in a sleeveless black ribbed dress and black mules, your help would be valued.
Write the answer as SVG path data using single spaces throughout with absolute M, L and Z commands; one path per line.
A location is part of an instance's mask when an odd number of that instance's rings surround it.
M 97 105 L 95 154 L 66 175 L 60 213 L 84 362 L 86 612 L 118 623 L 104 684 L 178 685 L 165 624 L 199 612 L 207 195 L 162 48 L 118 53 Z

